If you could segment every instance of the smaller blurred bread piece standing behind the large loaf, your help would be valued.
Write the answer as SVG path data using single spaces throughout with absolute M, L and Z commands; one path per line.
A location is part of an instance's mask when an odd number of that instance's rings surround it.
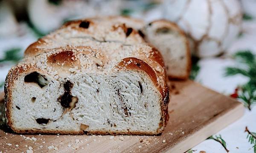
M 156 20 L 143 28 L 148 43 L 160 50 L 170 78 L 187 79 L 191 69 L 189 41 L 184 32 L 168 20 Z

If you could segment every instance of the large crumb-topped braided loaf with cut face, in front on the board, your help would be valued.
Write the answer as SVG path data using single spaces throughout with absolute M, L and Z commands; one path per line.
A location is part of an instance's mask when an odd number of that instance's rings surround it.
M 121 21 L 71 21 L 31 44 L 5 82 L 17 133 L 156 135 L 168 121 L 157 49 Z

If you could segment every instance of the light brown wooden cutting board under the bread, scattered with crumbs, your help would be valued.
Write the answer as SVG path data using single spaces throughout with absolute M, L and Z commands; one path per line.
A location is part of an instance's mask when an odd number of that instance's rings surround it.
M 25 153 L 30 149 L 36 153 L 183 153 L 233 123 L 244 113 L 242 104 L 233 98 L 193 81 L 172 81 L 169 88 L 170 119 L 160 136 L 19 135 L 1 126 L 0 151 Z M 3 98 L 3 94 L 0 96 Z M 3 110 L 3 100 L 0 108 Z

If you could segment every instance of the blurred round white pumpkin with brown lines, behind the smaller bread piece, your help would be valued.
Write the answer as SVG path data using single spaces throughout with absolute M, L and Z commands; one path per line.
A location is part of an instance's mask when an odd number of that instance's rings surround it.
M 199 57 L 223 53 L 239 35 L 242 12 L 238 0 L 165 0 L 164 17 L 192 39 Z

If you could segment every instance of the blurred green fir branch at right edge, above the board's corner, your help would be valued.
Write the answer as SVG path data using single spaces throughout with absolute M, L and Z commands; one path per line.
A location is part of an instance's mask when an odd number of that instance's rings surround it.
M 256 104 L 256 55 L 245 50 L 237 52 L 233 57 L 240 65 L 243 64 L 243 67 L 227 67 L 225 76 L 241 74 L 250 78 L 250 81 L 241 87 L 237 98 L 241 99 L 244 106 L 251 110 L 251 106 Z

